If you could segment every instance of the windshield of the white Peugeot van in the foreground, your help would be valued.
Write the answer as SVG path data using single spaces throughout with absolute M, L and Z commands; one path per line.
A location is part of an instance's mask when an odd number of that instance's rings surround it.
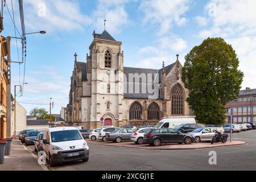
M 78 130 L 63 130 L 51 132 L 52 142 L 65 142 L 82 139 Z

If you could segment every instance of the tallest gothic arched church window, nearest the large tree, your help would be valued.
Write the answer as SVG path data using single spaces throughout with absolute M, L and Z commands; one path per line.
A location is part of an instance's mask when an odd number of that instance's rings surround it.
M 174 86 L 171 92 L 172 101 L 172 115 L 183 115 L 184 114 L 184 95 L 183 89 L 179 84 Z

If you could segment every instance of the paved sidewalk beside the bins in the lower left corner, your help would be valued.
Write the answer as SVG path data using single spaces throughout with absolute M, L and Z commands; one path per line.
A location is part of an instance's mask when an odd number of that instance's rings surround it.
M 24 147 L 19 140 L 14 139 L 10 155 L 5 156 L 4 164 L 0 164 L 0 171 L 42 171 L 38 161 Z

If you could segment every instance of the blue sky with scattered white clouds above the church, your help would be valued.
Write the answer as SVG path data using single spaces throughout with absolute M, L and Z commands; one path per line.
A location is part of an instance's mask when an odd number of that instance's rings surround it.
M 11 12 L 11 1 L 7 1 Z M 16 26 L 21 32 L 18 1 L 13 0 Z M 44 107 L 55 102 L 53 113 L 68 104 L 74 53 L 86 61 L 92 33 L 106 30 L 121 41 L 125 66 L 161 68 L 184 56 L 205 38 L 222 37 L 232 44 L 245 73 L 242 89 L 256 88 L 256 1 L 254 0 L 23 0 L 26 32 L 46 30 L 47 34 L 27 35 L 27 63 L 23 97 L 26 107 Z M 14 36 L 14 26 L 5 7 L 3 36 Z M 18 41 L 19 53 L 21 52 Z M 16 43 L 12 59 L 18 60 Z M 23 80 L 24 64 L 20 65 Z M 19 65 L 12 65 L 12 89 L 19 84 Z M 25 104 L 30 103 L 30 104 Z

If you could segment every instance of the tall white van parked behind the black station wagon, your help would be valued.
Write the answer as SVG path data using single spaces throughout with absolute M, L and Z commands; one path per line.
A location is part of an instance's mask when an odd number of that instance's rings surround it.
M 183 123 L 196 123 L 195 116 L 174 116 L 174 117 L 163 117 L 159 123 L 155 125 L 155 128 L 171 128 L 174 129 L 176 126 Z

